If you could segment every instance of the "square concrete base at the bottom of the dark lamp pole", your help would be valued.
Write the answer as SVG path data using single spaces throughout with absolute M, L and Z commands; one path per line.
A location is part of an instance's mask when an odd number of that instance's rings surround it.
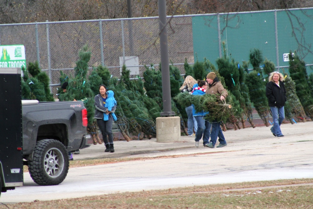
M 180 117 L 156 118 L 156 142 L 180 141 Z

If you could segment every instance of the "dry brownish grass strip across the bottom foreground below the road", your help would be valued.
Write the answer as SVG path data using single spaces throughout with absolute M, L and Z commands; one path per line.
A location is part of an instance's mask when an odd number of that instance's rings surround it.
M 313 179 L 244 182 L 9 204 L 38 208 L 312 208 Z

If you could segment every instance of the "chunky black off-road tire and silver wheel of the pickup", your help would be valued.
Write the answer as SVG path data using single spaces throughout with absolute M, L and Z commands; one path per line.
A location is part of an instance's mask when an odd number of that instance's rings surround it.
M 39 185 L 58 185 L 69 171 L 69 157 L 65 146 L 55 139 L 43 139 L 36 143 L 33 160 L 28 171 Z

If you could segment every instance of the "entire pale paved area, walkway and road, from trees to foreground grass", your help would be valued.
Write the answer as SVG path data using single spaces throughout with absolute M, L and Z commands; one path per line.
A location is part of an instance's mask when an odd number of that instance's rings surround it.
M 158 143 L 156 138 L 115 141 L 115 152 L 104 144 L 74 154 L 74 160 L 134 158 L 119 163 L 70 168 L 56 186 L 39 186 L 24 173 L 24 186 L 1 194 L 0 202 L 31 202 L 126 191 L 169 189 L 244 181 L 313 178 L 313 122 L 282 124 L 284 137 L 270 127 L 227 130 L 227 146 L 194 146 L 194 137 Z M 218 142 L 217 144 L 218 145 Z M 136 159 L 135 159 L 136 158 Z M 139 158 L 139 159 L 138 159 Z

